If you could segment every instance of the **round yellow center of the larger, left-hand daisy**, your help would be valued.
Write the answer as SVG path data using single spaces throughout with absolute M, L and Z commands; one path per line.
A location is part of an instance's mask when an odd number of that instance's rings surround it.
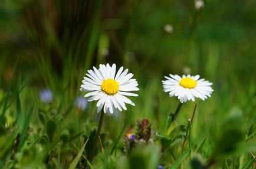
M 106 79 L 101 84 L 101 90 L 106 94 L 113 95 L 118 92 L 119 84 L 114 79 Z

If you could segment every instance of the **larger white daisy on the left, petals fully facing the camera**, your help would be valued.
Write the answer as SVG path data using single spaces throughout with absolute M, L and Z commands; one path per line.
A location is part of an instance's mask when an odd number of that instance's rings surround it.
M 135 104 L 126 96 L 138 96 L 130 92 L 139 90 L 136 79 L 131 79 L 133 74 L 127 72 L 128 69 L 123 71 L 122 66 L 116 73 L 116 64 L 100 65 L 99 69 L 93 67 L 93 70 L 86 73 L 87 77 L 84 77 L 80 90 L 89 92 L 84 96 L 90 97 L 88 102 L 98 100 L 98 112 L 101 109 L 104 113 L 127 110 L 125 103 Z

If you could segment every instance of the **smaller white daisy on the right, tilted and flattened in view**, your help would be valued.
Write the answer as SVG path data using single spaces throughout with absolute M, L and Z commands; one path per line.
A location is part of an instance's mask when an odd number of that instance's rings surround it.
M 211 93 L 214 92 L 211 85 L 205 79 L 199 79 L 199 75 L 172 75 L 170 77 L 165 76 L 166 80 L 163 80 L 163 91 L 169 92 L 169 96 L 176 96 L 180 100 L 180 103 L 185 103 L 187 100 L 195 101 L 196 98 L 202 100 L 211 97 Z

